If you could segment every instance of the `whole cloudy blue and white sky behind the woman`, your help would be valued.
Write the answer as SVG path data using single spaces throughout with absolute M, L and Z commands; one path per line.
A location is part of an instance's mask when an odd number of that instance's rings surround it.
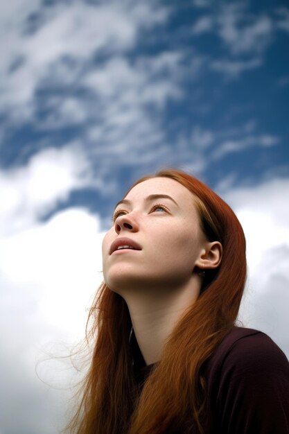
M 239 320 L 289 356 L 288 1 L 0 5 L 0 434 L 55 434 L 130 184 L 197 176 L 236 212 Z

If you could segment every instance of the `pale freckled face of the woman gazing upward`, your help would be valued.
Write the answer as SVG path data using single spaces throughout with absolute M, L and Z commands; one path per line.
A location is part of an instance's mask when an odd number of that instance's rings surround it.
M 181 286 L 200 266 L 205 243 L 193 194 L 167 177 L 143 181 L 116 205 L 103 239 L 105 283 L 115 292 Z

